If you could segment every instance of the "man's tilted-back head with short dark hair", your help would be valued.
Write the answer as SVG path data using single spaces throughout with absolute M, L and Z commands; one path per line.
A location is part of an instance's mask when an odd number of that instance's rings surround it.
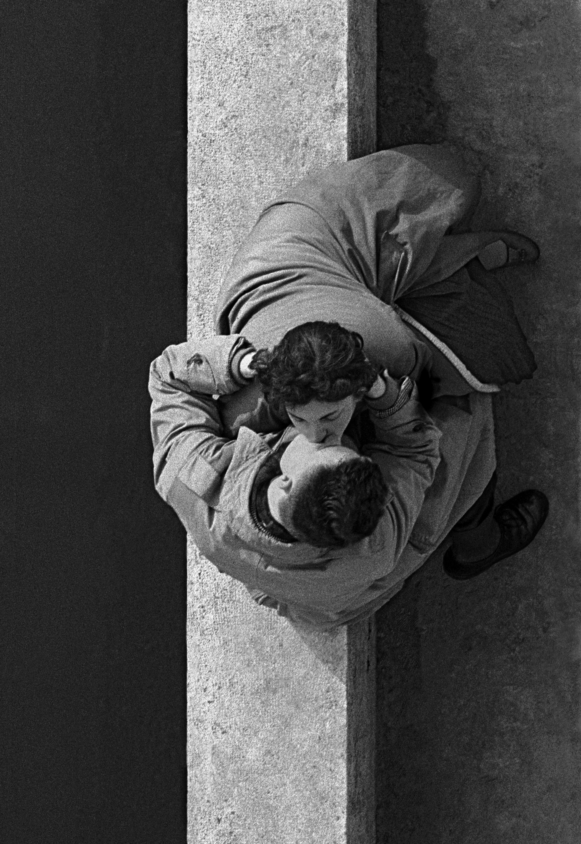
M 272 516 L 302 542 L 343 547 L 374 532 L 387 487 L 379 467 L 346 446 L 296 436 L 271 481 Z

